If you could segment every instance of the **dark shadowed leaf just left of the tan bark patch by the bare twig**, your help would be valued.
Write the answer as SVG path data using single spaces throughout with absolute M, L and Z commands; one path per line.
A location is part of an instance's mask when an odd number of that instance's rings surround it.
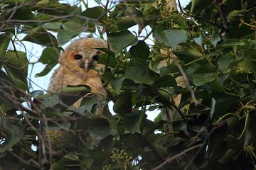
M 159 77 L 154 81 L 154 87 L 175 87 L 177 86 L 176 80 L 171 74 L 166 74 L 163 77 Z

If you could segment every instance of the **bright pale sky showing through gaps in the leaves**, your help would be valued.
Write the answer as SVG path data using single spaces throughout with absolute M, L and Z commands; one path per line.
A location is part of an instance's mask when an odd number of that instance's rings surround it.
M 185 7 L 188 3 L 189 3 L 190 0 L 181 0 L 181 6 Z M 65 2 L 68 4 L 74 4 L 74 0 L 66 0 L 66 1 L 60 1 L 60 2 Z M 102 1 L 104 3 L 104 1 Z M 177 3 L 178 4 L 178 3 Z M 97 3 L 95 3 L 95 1 L 90 1 L 89 2 L 89 7 L 93 7 L 93 6 L 98 6 Z M 82 10 L 85 10 L 85 8 L 83 8 Z M 150 31 L 149 30 L 150 28 L 148 28 L 148 32 Z M 134 26 L 132 28 L 129 28 L 130 31 L 132 30 L 137 30 L 137 26 Z M 144 32 L 142 32 L 142 35 L 146 35 L 146 31 L 144 30 Z M 53 35 L 57 35 L 57 33 L 53 33 Z M 83 33 L 83 35 L 86 35 Z M 19 35 L 19 39 L 22 40 L 22 38 L 24 37 L 25 35 Z M 74 38 L 73 40 L 75 40 L 76 38 Z M 150 39 L 150 38 L 149 38 Z M 70 42 L 72 42 L 73 40 L 70 40 Z M 148 44 L 152 44 L 153 42 L 151 42 L 151 40 L 146 40 L 146 43 Z M 65 49 L 65 47 L 68 46 L 69 43 L 63 45 L 63 49 Z M 48 84 L 50 82 L 50 77 L 51 75 L 53 74 L 54 70 L 58 68 L 58 64 L 51 70 L 51 72 L 49 72 L 46 76 L 44 77 L 35 77 L 35 75 L 39 72 L 41 72 L 45 65 L 44 64 L 41 64 L 38 61 L 38 59 L 41 57 L 41 53 L 43 51 L 43 49 L 45 47 L 41 46 L 41 45 L 37 45 L 35 43 L 31 43 L 31 42 L 26 42 L 26 41 L 23 41 L 23 45 L 21 44 L 17 44 L 18 45 L 18 48 L 17 50 L 21 50 L 21 51 L 25 51 L 27 52 L 27 57 L 28 57 L 28 61 L 31 62 L 31 63 L 36 63 L 36 64 L 29 64 L 28 66 L 28 81 L 30 81 L 31 83 L 31 87 L 32 87 L 32 91 L 35 91 L 35 90 L 43 90 L 43 91 L 46 91 L 48 89 Z M 13 50 L 12 49 L 13 47 L 9 47 L 10 50 Z M 114 111 L 112 111 L 112 105 L 113 103 L 110 102 L 109 104 L 109 108 L 110 108 L 110 111 L 112 113 L 114 113 Z M 149 120 L 154 120 L 154 118 L 156 117 L 156 115 L 159 114 L 159 111 L 153 111 L 153 112 L 148 112 L 147 115 L 148 115 L 148 118 Z

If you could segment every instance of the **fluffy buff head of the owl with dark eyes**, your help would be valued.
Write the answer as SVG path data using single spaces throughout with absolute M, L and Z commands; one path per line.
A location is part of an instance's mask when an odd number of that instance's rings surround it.
M 80 38 L 72 42 L 60 56 L 60 65 L 79 72 L 88 72 L 92 68 L 99 68 L 97 64 L 102 53 L 97 48 L 107 48 L 107 42 L 98 38 Z

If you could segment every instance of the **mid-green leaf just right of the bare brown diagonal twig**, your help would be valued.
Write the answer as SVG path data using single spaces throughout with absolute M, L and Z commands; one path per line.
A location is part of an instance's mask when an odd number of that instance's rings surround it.
M 202 86 L 210 81 L 215 79 L 215 74 L 213 73 L 204 73 L 204 74 L 192 74 L 193 84 L 196 86 Z

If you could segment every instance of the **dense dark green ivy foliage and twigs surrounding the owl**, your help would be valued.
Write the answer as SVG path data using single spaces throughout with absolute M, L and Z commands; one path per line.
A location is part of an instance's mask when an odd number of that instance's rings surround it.
M 193 0 L 178 11 L 164 0 L 95 2 L 0 1 L 0 169 L 254 169 L 255 1 Z M 31 91 L 28 54 L 16 48 L 45 47 L 43 77 L 81 33 L 110 45 L 99 60 L 108 91 L 102 117 L 96 96 L 70 107 L 87 86 Z M 169 120 L 146 119 L 164 108 Z

